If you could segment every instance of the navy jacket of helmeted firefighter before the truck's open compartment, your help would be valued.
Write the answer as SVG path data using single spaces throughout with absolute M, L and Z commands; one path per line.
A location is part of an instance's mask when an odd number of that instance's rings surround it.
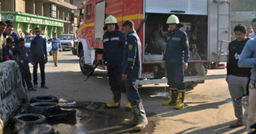
M 171 63 L 188 62 L 189 40 L 185 31 L 177 28 L 168 33 L 166 52 L 163 60 Z

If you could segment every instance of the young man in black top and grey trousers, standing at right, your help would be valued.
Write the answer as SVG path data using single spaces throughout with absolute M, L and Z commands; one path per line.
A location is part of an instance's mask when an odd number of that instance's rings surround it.
M 236 123 L 230 125 L 232 128 L 243 126 L 243 105 L 240 98 L 247 93 L 247 83 L 250 76 L 251 68 L 239 68 L 238 60 L 245 44 L 250 38 L 247 38 L 247 28 L 243 24 L 238 24 L 234 27 L 234 34 L 236 40 L 230 42 L 228 46 L 228 62 L 226 65 L 228 82 L 228 89 L 232 98 L 234 115 L 236 116 Z

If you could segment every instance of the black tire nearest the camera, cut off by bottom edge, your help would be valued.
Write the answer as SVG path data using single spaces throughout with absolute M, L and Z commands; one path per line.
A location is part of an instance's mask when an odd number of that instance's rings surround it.
M 30 125 L 22 129 L 18 134 L 27 133 L 38 133 L 38 134 L 55 134 L 55 131 L 51 125 L 41 124 L 41 125 Z

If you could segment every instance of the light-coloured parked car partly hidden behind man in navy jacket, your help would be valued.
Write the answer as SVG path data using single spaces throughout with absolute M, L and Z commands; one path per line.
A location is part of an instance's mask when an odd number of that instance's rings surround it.
M 26 36 L 25 37 L 25 47 L 26 48 L 30 48 L 31 41 L 34 39 L 34 37 L 36 37 L 36 36 L 33 35 L 33 36 Z M 52 55 L 51 54 L 52 43 L 48 44 L 48 41 L 50 40 L 49 36 L 40 35 L 40 37 L 44 38 L 44 40 L 46 41 L 46 51 L 49 52 L 50 55 Z

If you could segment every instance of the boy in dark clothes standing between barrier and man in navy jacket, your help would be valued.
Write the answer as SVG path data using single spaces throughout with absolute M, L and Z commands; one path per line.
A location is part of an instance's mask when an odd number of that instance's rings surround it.
M 17 59 L 18 64 L 20 66 L 20 72 L 22 72 L 22 83 L 23 86 L 26 87 L 28 90 L 36 90 L 33 88 L 32 82 L 31 82 L 31 73 L 30 73 L 30 67 L 28 66 L 28 63 L 30 62 L 30 54 L 27 48 L 25 48 L 25 40 L 24 38 L 19 39 L 19 45 L 15 47 L 15 50 L 17 52 Z M 26 85 L 25 85 L 26 82 Z

